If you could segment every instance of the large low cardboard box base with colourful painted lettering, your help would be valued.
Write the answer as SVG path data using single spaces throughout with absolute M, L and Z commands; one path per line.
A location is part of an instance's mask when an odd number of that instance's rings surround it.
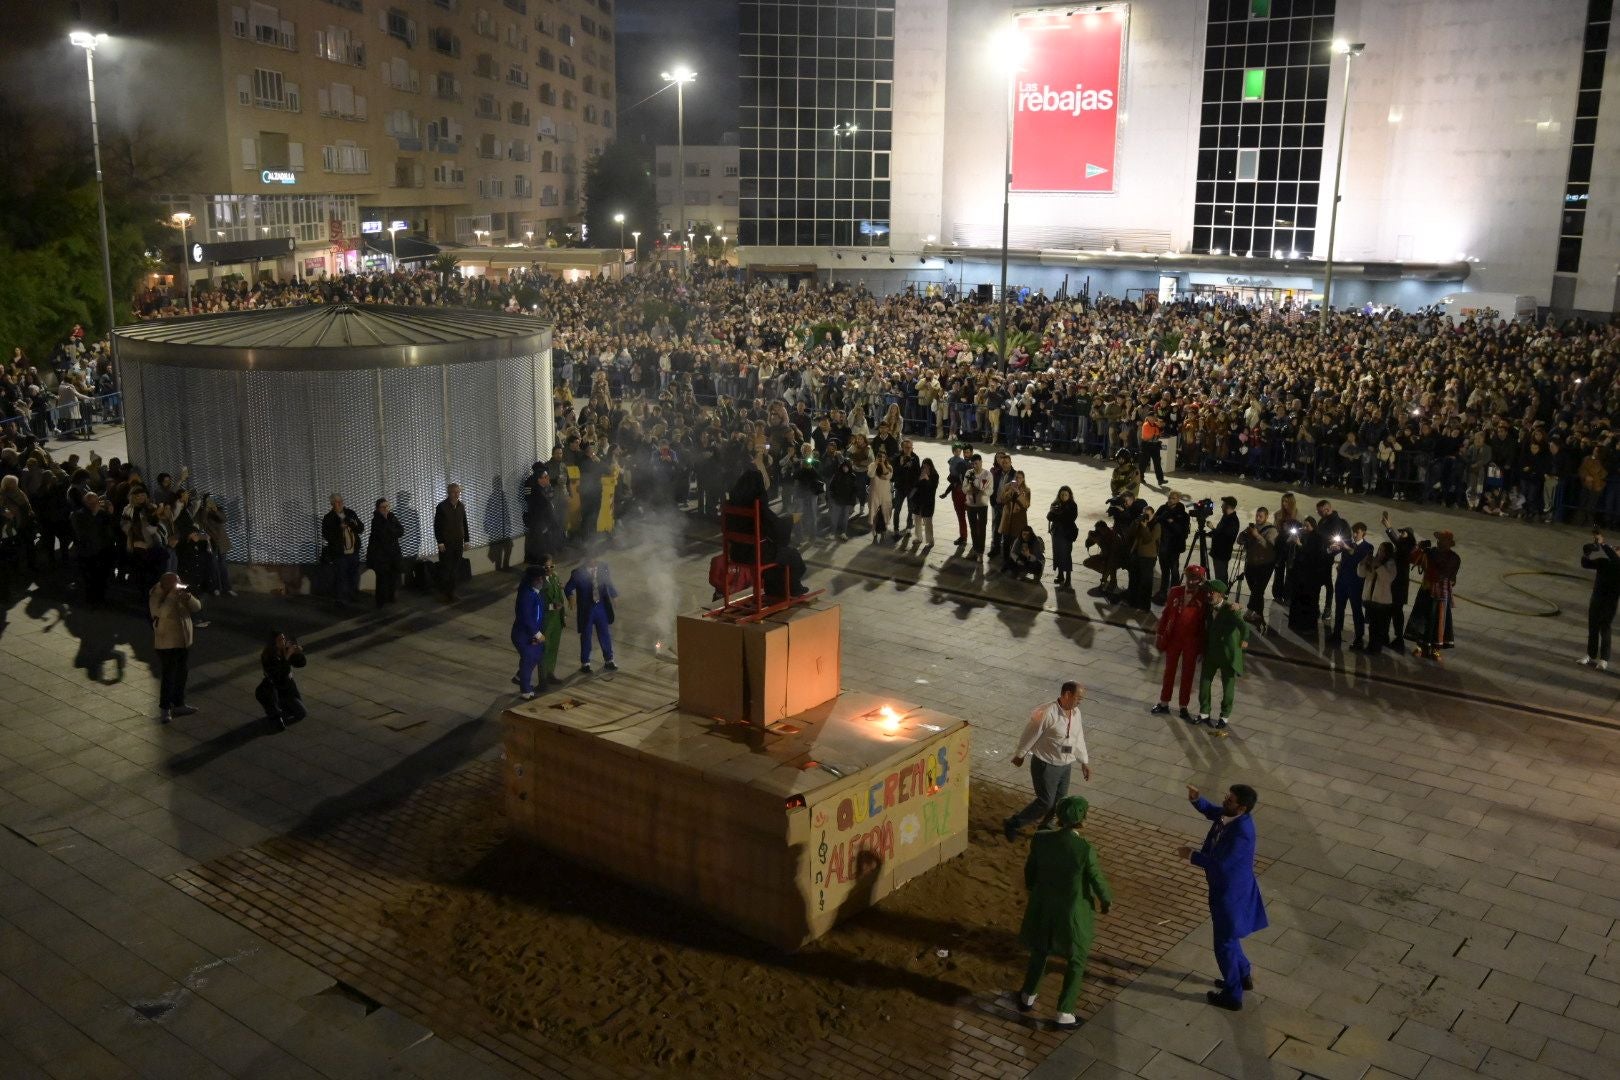
M 792 633 L 789 622 L 763 627 L 760 638 L 791 651 Z M 606 706 L 627 688 L 601 680 L 505 712 L 515 836 L 782 949 L 813 941 L 967 844 L 962 721 L 847 693 L 791 716 L 799 729 L 791 735 L 667 706 L 603 730 L 598 709 L 585 706 Z M 570 708 L 554 708 L 562 701 Z M 807 761 L 836 769 L 802 767 Z

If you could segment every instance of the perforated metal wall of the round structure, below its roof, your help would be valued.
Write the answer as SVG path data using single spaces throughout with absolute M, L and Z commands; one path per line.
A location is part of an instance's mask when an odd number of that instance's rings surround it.
M 225 510 L 230 559 L 311 563 L 332 492 L 369 526 L 379 495 L 431 555 L 433 510 L 462 484 L 473 546 L 522 534 L 518 491 L 549 452 L 551 353 L 332 371 L 125 364 L 130 457 L 191 468 Z

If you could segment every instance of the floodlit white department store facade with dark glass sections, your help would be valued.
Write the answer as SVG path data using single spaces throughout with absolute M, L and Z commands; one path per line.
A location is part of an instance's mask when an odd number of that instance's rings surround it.
M 744 74 L 739 256 L 757 269 L 813 261 L 846 277 L 855 266 L 854 275 L 865 274 L 875 288 L 993 285 L 1009 126 L 1024 136 L 1013 139 L 1017 176 L 1021 151 L 1030 152 L 1038 139 L 1032 133 L 1061 130 L 1042 128 L 1051 118 L 1030 110 L 1043 107 L 1043 94 L 1051 105 L 1079 86 L 1047 81 L 1045 73 L 1069 70 L 1050 66 L 1047 53 L 1022 63 L 1011 58 L 1003 31 L 1024 13 L 1017 24 L 1025 47 L 1042 21 L 1072 31 L 1076 53 L 1090 49 L 1081 42 L 1087 32 L 1106 37 L 1110 26 L 1119 44 L 1116 58 L 1105 57 L 1113 73 L 1103 63 L 1087 76 L 1116 79 L 1087 83 L 1111 92 L 1100 110 L 1110 113 L 1106 123 L 1084 115 L 1079 104 L 1064 118 L 1076 131 L 1102 131 L 1098 152 L 1110 157 L 1076 162 L 1087 175 L 1072 185 L 1013 183 L 1009 285 L 1309 298 L 1322 291 L 1332 228 L 1335 304 L 1409 308 L 1479 290 L 1529 295 L 1555 311 L 1609 313 L 1620 280 L 1614 217 L 1620 110 L 1602 108 L 1604 83 L 1615 79 L 1605 79 L 1610 6 L 1607 0 L 744 3 L 745 65 L 750 47 L 761 63 L 753 97 L 747 68 Z M 816 8 L 813 62 L 805 60 L 812 26 L 805 8 Z M 816 193 L 823 183 L 839 189 L 841 173 L 825 175 L 831 151 L 802 151 L 808 130 L 826 134 L 846 121 L 836 108 L 828 123 L 820 113 L 821 96 L 839 100 L 841 92 L 826 87 L 839 73 L 836 62 L 823 63 L 818 37 L 829 11 L 834 28 L 836 13 L 847 13 L 854 28 L 834 34 L 834 53 L 859 55 L 863 13 L 878 31 L 893 24 L 893 71 L 870 71 L 868 160 L 883 170 L 891 207 L 883 257 L 855 251 L 867 246 L 859 235 L 863 214 L 838 209 L 831 232 L 799 227 L 799 170 L 810 170 Z M 1336 39 L 1356 49 L 1335 52 Z M 776 76 L 770 86 L 766 73 Z M 855 68 L 855 74 L 859 87 L 868 73 Z M 808 117 L 807 100 L 816 102 Z M 867 117 L 860 120 L 863 126 Z M 792 157 L 781 149 L 789 133 Z M 876 165 L 880 134 L 888 152 Z M 1048 139 L 1061 152 L 1077 154 L 1081 144 Z M 789 165 L 791 215 L 781 199 Z M 880 191 L 876 172 L 872 183 Z M 789 220 L 791 228 L 782 225 Z

